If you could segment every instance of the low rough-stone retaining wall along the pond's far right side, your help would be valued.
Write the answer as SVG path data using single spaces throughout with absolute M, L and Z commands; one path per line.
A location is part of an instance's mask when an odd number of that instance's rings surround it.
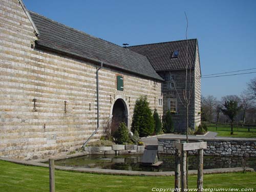
M 177 138 L 180 139 L 180 138 Z M 158 151 L 163 154 L 175 154 L 174 141 L 176 138 L 158 138 Z M 180 139 L 184 141 L 185 139 Z M 189 139 L 189 142 L 197 142 L 198 139 Z M 211 156 L 246 156 L 256 157 L 256 139 L 237 138 L 213 138 L 200 139 L 207 142 L 204 155 Z M 195 155 L 197 151 L 189 151 Z

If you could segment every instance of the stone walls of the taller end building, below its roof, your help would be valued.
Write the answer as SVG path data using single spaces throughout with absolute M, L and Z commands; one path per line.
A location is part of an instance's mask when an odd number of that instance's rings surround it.
M 186 108 L 184 107 L 180 100 L 182 100 L 182 102 L 185 103 L 183 98 L 183 90 L 185 90 L 186 71 L 174 70 L 158 73 L 163 79 L 165 79 L 165 81 L 162 83 L 163 114 L 165 114 L 168 110 L 169 100 L 176 99 L 177 111 L 176 114 L 173 115 L 174 127 L 176 132 L 183 132 L 186 129 Z M 189 73 L 190 71 L 188 70 L 187 86 L 189 85 Z M 174 79 L 171 79 L 171 76 L 173 76 Z M 188 126 L 191 127 L 191 129 L 195 129 L 195 127 L 201 123 L 201 115 L 199 113 L 201 111 L 201 79 L 199 78 L 200 76 L 201 69 L 199 60 L 199 50 L 197 47 L 195 70 L 191 70 L 191 84 L 194 84 L 190 98 L 190 104 L 188 106 Z M 172 82 L 175 83 L 176 89 L 170 87 L 170 83 Z M 189 90 L 189 88 L 187 88 L 187 90 Z

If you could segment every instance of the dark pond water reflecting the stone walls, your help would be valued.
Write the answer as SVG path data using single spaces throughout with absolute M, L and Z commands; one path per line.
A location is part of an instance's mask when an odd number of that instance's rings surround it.
M 160 155 L 163 163 L 158 167 L 146 166 L 140 163 L 142 155 L 86 155 L 81 157 L 56 160 L 60 166 L 103 168 L 118 170 L 136 170 L 144 172 L 169 172 L 174 171 L 175 159 L 171 155 Z M 256 170 L 256 158 L 246 158 L 246 166 Z M 189 156 L 189 170 L 197 169 L 197 156 Z M 204 156 L 204 169 L 241 167 L 240 157 Z

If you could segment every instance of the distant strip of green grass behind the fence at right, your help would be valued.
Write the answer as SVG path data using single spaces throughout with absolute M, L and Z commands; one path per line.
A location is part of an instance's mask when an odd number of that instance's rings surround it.
M 241 137 L 241 138 L 256 138 L 256 129 L 250 130 L 248 132 L 247 129 L 241 128 L 233 128 L 233 135 L 230 135 L 231 128 L 228 127 L 218 127 L 216 131 L 216 127 L 214 126 L 207 126 L 207 131 L 217 132 L 220 137 Z

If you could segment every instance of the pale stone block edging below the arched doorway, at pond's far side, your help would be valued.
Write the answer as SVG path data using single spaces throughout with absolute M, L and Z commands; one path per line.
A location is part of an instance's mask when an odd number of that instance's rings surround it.
M 144 146 L 139 145 L 112 145 L 112 146 L 86 146 L 85 152 L 90 154 L 105 154 L 105 155 L 124 155 L 133 153 L 143 153 Z

